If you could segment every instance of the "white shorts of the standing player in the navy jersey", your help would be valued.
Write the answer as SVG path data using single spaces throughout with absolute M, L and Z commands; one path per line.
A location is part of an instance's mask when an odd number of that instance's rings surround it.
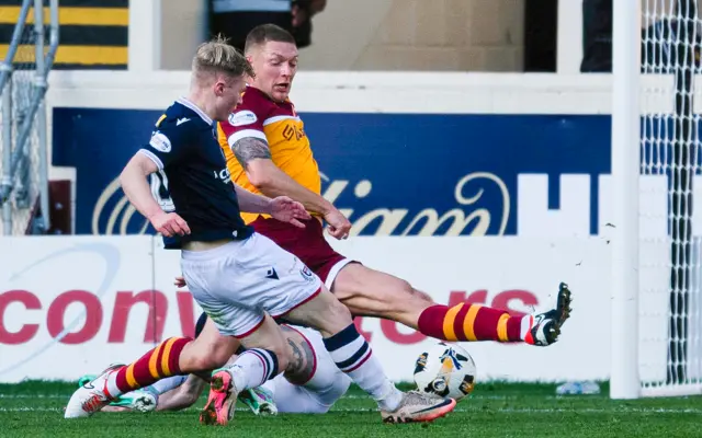
M 259 233 L 213 250 L 182 251 L 181 269 L 193 298 L 225 336 L 246 337 L 264 313 L 284 315 L 321 290 L 305 264 Z

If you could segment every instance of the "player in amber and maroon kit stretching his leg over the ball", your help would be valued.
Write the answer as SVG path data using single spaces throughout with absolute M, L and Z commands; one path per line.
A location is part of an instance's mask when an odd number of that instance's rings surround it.
M 408 281 L 337 253 L 325 239 L 322 221 L 336 239 L 349 235 L 351 222 L 321 196 L 310 140 L 288 99 L 297 71 L 295 38 L 276 25 L 263 24 L 249 33 L 245 55 L 256 77 L 248 82 L 241 103 L 228 120 L 218 124 L 219 145 L 231 178 L 256 194 L 290 196 L 313 215 L 304 221 L 305 228 L 260 214 L 241 215 L 247 223 L 299 257 L 353 315 L 397 321 L 444 341 L 524 342 L 537 346 L 556 342 L 570 310 L 570 291 L 565 285 L 558 291 L 562 312 L 546 312 L 536 320 L 531 315 L 510 316 L 503 310 L 480 304 L 438 304 Z M 427 154 L 430 163 L 429 171 L 419 170 L 417 177 L 440 172 L 441 160 L 432 162 L 431 148 L 417 153 Z

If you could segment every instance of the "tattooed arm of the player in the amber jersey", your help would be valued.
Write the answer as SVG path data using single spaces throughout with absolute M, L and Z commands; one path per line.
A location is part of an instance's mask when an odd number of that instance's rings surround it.
M 264 140 L 244 137 L 234 141 L 231 150 L 251 184 L 264 195 L 290 196 L 305 206 L 307 211 L 322 215 L 329 224 L 331 235 L 337 239 L 346 239 L 349 235 L 349 220 L 330 201 L 281 171 L 271 160 L 271 151 Z

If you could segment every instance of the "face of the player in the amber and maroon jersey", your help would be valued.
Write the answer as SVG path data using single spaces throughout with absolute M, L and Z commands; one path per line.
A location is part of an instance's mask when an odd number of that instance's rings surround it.
M 268 42 L 251 56 L 256 79 L 251 83 L 272 100 L 287 99 L 297 72 L 297 47 L 292 43 Z

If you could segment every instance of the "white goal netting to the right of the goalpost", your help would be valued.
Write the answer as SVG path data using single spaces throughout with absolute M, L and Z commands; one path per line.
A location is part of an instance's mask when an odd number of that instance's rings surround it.
M 695 0 L 642 1 L 642 395 L 702 391 L 697 11 Z

